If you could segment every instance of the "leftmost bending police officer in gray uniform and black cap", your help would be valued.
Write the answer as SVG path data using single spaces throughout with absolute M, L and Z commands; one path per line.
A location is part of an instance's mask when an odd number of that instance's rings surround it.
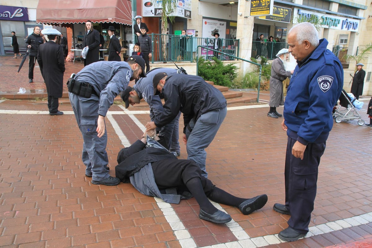
M 85 175 L 92 177 L 92 184 L 114 186 L 120 183 L 119 178 L 109 175 L 105 116 L 115 97 L 130 80 L 146 77 L 144 71 L 144 59 L 132 55 L 127 62 L 89 64 L 68 80 L 68 96 L 84 140 L 82 160 L 86 165 Z

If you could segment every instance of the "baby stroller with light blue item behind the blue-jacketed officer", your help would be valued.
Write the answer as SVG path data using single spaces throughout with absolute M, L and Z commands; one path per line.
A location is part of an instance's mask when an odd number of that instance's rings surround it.
M 359 102 L 359 105 L 357 107 L 355 106 L 356 98 L 351 94 L 352 97 L 350 97 L 346 91 L 342 90 L 340 95 L 340 106 L 335 107 L 336 110 L 333 113 L 333 118 L 336 123 L 340 123 L 343 120 L 358 120 L 358 125 L 363 126 L 364 120 L 362 120 L 362 117 L 359 115 L 357 110 L 360 110 L 363 106 L 363 102 Z M 344 109 L 341 109 L 343 107 Z

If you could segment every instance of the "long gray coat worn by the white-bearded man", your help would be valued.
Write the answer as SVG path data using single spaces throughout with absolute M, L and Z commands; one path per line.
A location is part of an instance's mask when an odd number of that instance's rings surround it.
M 270 77 L 270 107 L 279 107 L 284 105 L 283 99 L 283 80 L 291 78 L 291 72 L 286 71 L 283 61 L 278 57 L 271 64 Z

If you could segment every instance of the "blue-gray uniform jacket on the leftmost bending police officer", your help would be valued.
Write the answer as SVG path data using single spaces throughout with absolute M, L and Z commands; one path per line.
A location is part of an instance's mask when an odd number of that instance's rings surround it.
M 115 97 L 128 86 L 132 74 L 127 62 L 99 61 L 84 67 L 74 79 L 92 84 L 99 97 L 98 114 L 106 116 Z M 92 94 L 91 98 L 96 97 Z

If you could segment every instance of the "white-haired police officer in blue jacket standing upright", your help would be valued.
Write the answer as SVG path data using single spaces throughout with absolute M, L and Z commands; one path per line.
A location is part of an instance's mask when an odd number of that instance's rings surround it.
M 273 209 L 291 215 L 279 238 L 295 241 L 309 231 L 318 166 L 333 126 L 332 109 L 343 87 L 343 69 L 327 49 L 328 41 L 319 40 L 311 23 L 299 23 L 289 30 L 288 45 L 297 66 L 288 86 L 282 122 L 288 135 L 285 204 L 275 203 Z

